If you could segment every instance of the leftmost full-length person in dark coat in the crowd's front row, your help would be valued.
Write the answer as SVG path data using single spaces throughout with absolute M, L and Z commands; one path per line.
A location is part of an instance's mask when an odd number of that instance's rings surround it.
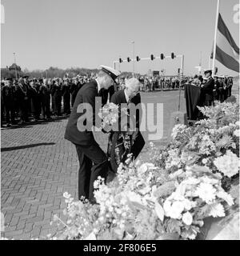
M 6 126 L 15 124 L 14 102 L 16 90 L 13 85 L 13 79 L 7 78 L 6 85 L 2 87 L 2 104 L 6 111 Z

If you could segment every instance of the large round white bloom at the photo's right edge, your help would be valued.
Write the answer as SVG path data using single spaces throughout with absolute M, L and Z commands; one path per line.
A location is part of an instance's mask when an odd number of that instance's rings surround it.
M 224 175 L 231 178 L 234 174 L 238 174 L 239 158 L 230 150 L 226 150 L 226 154 L 214 160 L 214 165 Z

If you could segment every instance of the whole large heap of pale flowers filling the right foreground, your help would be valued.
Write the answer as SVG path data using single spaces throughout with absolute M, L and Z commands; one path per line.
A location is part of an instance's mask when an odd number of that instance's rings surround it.
M 194 127 L 175 126 L 164 150 L 150 143 L 150 162 L 129 157 L 112 182 L 98 178 L 96 205 L 64 194 L 68 220 L 58 238 L 195 239 L 205 218 L 224 217 L 234 205 L 226 178 L 239 171 L 238 106 L 201 110 L 207 118 Z

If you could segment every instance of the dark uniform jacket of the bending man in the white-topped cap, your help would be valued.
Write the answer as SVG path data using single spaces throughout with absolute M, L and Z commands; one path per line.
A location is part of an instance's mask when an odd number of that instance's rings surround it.
M 89 120 L 93 120 L 93 125 L 95 123 L 95 97 L 98 96 L 98 84 L 96 80 L 93 80 L 89 83 L 86 83 L 80 90 L 78 90 L 78 94 L 75 98 L 74 106 L 70 114 L 70 118 L 66 125 L 66 132 L 64 138 L 73 142 L 74 144 L 80 146 L 90 146 L 95 143 L 94 135 L 92 131 L 79 131 L 77 127 L 78 118 L 82 117 L 82 119 L 86 121 L 86 110 L 83 113 L 77 113 L 78 106 L 82 103 L 89 103 L 93 108 L 92 116 L 87 114 L 87 118 Z M 83 116 L 84 115 L 84 116 Z M 92 119 L 91 119 L 92 118 Z M 81 121 L 82 122 L 82 121 Z

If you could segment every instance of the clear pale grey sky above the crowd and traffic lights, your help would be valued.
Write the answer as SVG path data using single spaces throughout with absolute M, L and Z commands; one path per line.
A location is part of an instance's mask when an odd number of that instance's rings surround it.
M 208 68 L 214 42 L 217 0 L 2 0 L 1 66 L 22 70 L 100 65 L 114 60 L 184 54 L 184 74 Z M 221 0 L 220 13 L 239 46 L 238 0 Z M 239 9 L 238 9 L 239 10 Z M 134 43 L 132 43 L 134 41 Z M 202 54 L 201 54 L 202 53 Z M 237 75 L 216 61 L 218 74 Z M 132 71 L 133 63 L 117 68 Z M 134 70 L 177 74 L 180 58 L 135 62 Z

